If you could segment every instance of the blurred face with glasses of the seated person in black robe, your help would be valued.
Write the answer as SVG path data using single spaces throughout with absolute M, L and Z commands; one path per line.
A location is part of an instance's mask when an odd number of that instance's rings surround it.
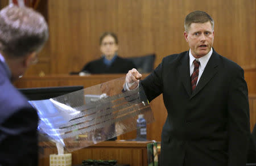
M 105 56 L 112 57 L 117 52 L 118 45 L 115 43 L 114 37 L 108 35 L 102 40 L 100 49 Z

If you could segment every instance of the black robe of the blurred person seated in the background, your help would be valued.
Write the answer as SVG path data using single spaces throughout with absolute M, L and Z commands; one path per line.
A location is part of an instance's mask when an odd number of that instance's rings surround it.
M 83 67 L 82 71 L 87 71 L 91 74 L 128 73 L 129 70 L 136 68 L 134 63 L 129 59 L 118 56 L 110 66 L 105 65 L 103 59 L 104 58 L 100 58 L 89 62 Z

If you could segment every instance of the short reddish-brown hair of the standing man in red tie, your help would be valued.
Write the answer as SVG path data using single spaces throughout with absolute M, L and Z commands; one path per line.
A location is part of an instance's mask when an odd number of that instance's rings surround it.
M 209 14 L 207 14 L 207 12 L 199 11 L 199 10 L 193 11 L 186 16 L 185 22 L 184 22 L 184 28 L 185 28 L 185 31 L 188 32 L 190 25 L 192 23 L 207 23 L 207 22 L 210 22 L 210 24 L 212 24 L 212 29 L 213 29 L 214 20 Z

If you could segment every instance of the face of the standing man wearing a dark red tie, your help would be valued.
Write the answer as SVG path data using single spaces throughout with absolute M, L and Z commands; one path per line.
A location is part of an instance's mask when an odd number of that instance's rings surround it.
M 185 40 L 188 42 L 191 53 L 195 58 L 200 58 L 209 53 L 213 45 L 214 31 L 212 24 L 192 23 L 188 32 L 184 32 Z

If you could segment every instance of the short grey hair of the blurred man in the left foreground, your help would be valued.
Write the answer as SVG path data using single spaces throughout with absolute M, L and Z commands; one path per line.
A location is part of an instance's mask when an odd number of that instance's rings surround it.
M 0 11 L 0 52 L 22 57 L 38 52 L 48 39 L 43 16 L 32 8 L 7 6 Z

